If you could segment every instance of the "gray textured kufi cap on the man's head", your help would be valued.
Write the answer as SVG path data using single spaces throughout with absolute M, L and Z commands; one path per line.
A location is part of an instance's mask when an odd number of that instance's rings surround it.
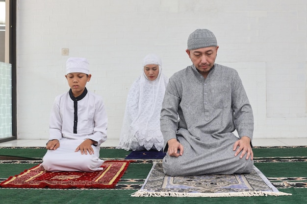
M 207 29 L 197 29 L 189 35 L 188 50 L 203 47 L 216 47 L 217 41 L 214 34 Z

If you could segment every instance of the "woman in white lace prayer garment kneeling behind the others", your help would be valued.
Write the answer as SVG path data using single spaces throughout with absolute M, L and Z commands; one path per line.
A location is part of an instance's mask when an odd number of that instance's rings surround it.
M 160 112 L 168 78 L 161 66 L 161 59 L 154 54 L 144 58 L 142 74 L 128 93 L 118 149 L 160 151 L 163 148 Z

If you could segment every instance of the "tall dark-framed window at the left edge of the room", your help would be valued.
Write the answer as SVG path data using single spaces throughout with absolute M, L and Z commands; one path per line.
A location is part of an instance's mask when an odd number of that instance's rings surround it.
M 17 138 L 16 0 L 0 0 L 0 142 Z

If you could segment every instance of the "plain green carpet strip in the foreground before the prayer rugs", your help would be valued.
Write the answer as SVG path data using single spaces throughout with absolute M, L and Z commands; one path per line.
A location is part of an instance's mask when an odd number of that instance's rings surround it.
M 229 198 L 134 198 L 135 190 L 0 189 L 3 204 L 305 204 L 306 189 L 283 190 L 292 196 Z M 3 197 L 4 196 L 4 197 Z

